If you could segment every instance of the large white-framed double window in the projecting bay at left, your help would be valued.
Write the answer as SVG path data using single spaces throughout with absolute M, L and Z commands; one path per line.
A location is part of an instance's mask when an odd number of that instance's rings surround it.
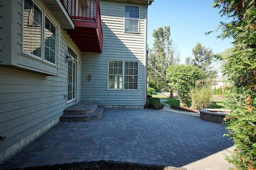
M 56 25 L 41 8 L 32 0 L 24 0 L 23 50 L 56 64 L 56 32 Z

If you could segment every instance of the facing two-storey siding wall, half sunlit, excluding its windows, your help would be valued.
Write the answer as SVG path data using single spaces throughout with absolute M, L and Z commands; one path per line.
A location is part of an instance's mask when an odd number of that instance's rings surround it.
M 140 7 L 139 33 L 124 33 L 124 5 Z M 146 95 L 146 18 L 144 5 L 100 0 L 103 52 L 82 53 L 81 100 L 105 107 L 144 107 Z M 108 60 L 138 61 L 138 90 L 108 90 Z M 88 81 L 88 75 L 91 80 Z

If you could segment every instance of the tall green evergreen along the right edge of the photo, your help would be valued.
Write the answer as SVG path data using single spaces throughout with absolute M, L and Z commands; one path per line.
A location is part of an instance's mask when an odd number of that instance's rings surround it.
M 218 55 L 224 60 L 224 73 L 233 84 L 230 103 L 234 111 L 226 117 L 228 134 L 236 146 L 228 158 L 236 169 L 256 169 L 256 1 L 214 0 L 221 16 L 232 18 L 220 22 L 219 38 L 234 39 L 231 55 Z M 209 32 L 210 33 L 210 32 Z

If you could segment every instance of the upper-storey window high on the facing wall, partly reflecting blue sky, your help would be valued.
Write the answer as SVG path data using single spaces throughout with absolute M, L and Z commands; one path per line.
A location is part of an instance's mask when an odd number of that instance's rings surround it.
M 124 32 L 139 32 L 139 18 L 140 7 L 138 6 L 124 6 Z

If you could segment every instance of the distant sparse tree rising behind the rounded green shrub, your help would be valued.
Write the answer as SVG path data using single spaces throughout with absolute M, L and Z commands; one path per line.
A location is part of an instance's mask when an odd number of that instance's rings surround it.
M 211 66 L 214 53 L 210 47 L 206 47 L 202 45 L 202 43 L 197 42 L 196 46 L 192 49 L 192 54 L 194 58 L 187 57 L 185 61 L 186 64 L 198 66 L 206 72 L 209 78 L 214 78 L 217 76 L 216 69 Z

